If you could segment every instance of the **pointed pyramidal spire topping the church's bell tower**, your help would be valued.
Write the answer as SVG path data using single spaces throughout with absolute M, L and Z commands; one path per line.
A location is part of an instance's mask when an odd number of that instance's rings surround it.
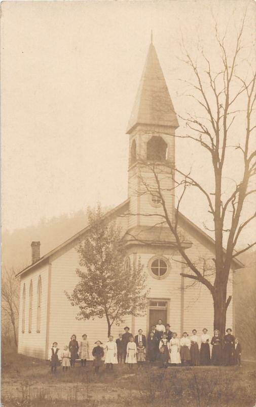
M 128 123 L 127 133 L 131 133 L 138 124 L 178 127 L 176 113 L 153 45 L 152 31 L 151 44 Z

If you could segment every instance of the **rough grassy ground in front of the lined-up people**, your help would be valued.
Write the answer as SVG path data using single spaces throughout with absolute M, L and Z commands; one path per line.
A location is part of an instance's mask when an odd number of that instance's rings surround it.
M 255 364 L 232 367 L 114 366 L 99 375 L 92 362 L 51 374 L 49 362 L 11 353 L 2 360 L 4 407 L 254 407 Z

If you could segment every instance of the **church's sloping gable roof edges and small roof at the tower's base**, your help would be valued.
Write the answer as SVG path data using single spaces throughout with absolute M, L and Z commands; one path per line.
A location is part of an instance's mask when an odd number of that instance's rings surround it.
M 111 211 L 106 212 L 104 215 L 104 219 L 106 218 L 112 218 L 116 217 L 119 215 L 123 215 L 125 212 L 129 210 L 129 202 L 130 199 L 126 199 L 124 202 L 122 202 L 120 205 L 118 205 L 116 208 L 112 209 Z M 128 212 L 127 212 L 128 213 Z M 205 243 L 207 242 L 210 246 L 213 246 L 215 244 L 214 240 L 208 236 L 202 229 L 200 229 L 198 226 L 196 226 L 193 222 L 191 222 L 185 215 L 182 215 L 179 213 L 180 221 L 184 222 L 184 225 L 186 227 L 189 227 L 192 229 L 199 238 L 201 238 Z M 61 252 L 62 249 L 68 250 L 69 247 L 74 247 L 76 244 L 78 244 L 81 239 L 83 238 L 83 235 L 89 231 L 90 226 L 84 227 L 82 230 L 80 230 L 76 235 L 72 236 L 70 239 L 66 240 L 63 242 L 61 245 L 55 247 L 55 249 L 49 251 L 47 254 L 45 254 L 43 257 L 41 257 L 36 263 L 33 263 L 26 267 L 25 269 L 21 270 L 18 274 L 16 274 L 16 277 L 19 277 L 21 274 L 36 268 L 38 266 L 41 266 L 43 263 L 45 263 L 46 260 L 49 261 L 50 256 L 57 252 Z M 146 230 L 147 229 L 147 230 Z M 173 244 L 174 245 L 174 238 L 171 236 L 170 230 L 167 230 L 168 227 L 152 227 L 152 226 L 137 226 L 133 229 L 130 229 L 126 232 L 124 239 L 129 241 L 130 239 L 134 238 L 137 242 L 142 242 L 144 244 L 163 244 L 163 241 L 166 241 L 167 245 Z M 130 235 L 130 236 L 129 236 Z M 154 242 L 153 242 L 154 240 Z M 191 245 L 190 241 L 185 241 L 185 245 L 188 247 Z M 224 253 L 226 250 L 224 250 Z M 233 259 L 233 264 L 235 269 L 241 269 L 244 267 L 243 263 L 239 261 L 237 258 Z

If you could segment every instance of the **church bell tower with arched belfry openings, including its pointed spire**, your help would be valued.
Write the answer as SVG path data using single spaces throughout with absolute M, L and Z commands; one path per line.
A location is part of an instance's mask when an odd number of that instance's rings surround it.
M 161 193 L 169 217 L 174 216 L 174 163 L 176 113 L 156 49 L 149 47 L 137 96 L 128 123 L 130 198 L 129 228 L 160 224 Z

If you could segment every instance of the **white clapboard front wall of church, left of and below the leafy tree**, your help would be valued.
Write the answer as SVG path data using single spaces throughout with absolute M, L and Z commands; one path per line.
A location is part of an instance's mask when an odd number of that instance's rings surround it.
M 79 257 L 76 249 L 71 249 L 62 256 L 52 261 L 52 283 L 51 283 L 51 314 L 49 326 L 49 344 L 58 342 L 58 346 L 63 348 L 68 345 L 70 336 L 77 335 L 78 341 L 86 333 L 90 342 L 91 352 L 96 340 L 105 342 L 107 340 L 107 323 L 105 318 L 95 318 L 88 321 L 78 321 L 76 315 L 77 307 L 72 307 L 68 301 L 65 291 L 71 294 L 72 289 L 79 281 L 75 270 L 79 267 Z M 131 326 L 131 317 L 127 317 L 125 324 Z M 125 325 L 124 325 L 125 326 Z M 118 337 L 119 332 L 124 332 L 123 326 L 114 326 L 112 333 Z

